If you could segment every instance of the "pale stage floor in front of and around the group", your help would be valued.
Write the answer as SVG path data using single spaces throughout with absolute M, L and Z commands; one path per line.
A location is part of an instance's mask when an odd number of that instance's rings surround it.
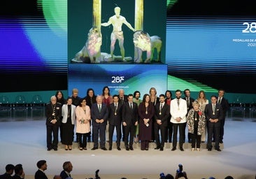
M 2 118 L 1 118 L 2 119 Z M 22 120 L 23 119 L 23 120 Z M 150 150 L 121 151 L 115 148 L 111 151 L 78 150 L 74 143 L 73 150 L 66 151 L 59 145 L 59 150 L 46 150 L 45 120 L 34 117 L 34 120 L 8 118 L 0 122 L 0 173 L 4 173 L 6 164 L 22 164 L 26 179 L 34 178 L 37 170 L 36 162 L 45 159 L 48 178 L 62 171 L 62 164 L 71 161 L 73 178 L 94 178 L 99 169 L 101 178 L 159 178 L 159 173 L 171 173 L 173 176 L 178 164 L 183 164 L 183 170 L 188 178 L 255 178 L 256 174 L 256 122 L 251 119 L 232 120 L 225 123 L 225 138 L 222 152 L 207 151 L 204 147 L 200 152 L 190 150 L 190 144 L 185 143 L 185 151 L 171 151 L 171 144 L 166 144 L 164 151 Z

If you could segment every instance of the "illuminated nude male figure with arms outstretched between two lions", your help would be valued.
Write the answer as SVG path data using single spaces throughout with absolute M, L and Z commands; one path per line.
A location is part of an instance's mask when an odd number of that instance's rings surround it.
M 124 34 L 122 31 L 122 24 L 126 24 L 129 29 L 134 31 L 134 28 L 131 27 L 131 24 L 127 22 L 125 17 L 120 15 L 120 7 L 115 7 L 115 15 L 111 16 L 108 20 L 108 22 L 101 23 L 101 26 L 107 27 L 110 24 L 113 26 L 113 31 L 111 33 L 111 57 L 114 59 L 114 50 L 115 50 L 115 41 L 119 41 L 119 47 L 120 47 L 120 52 L 122 56 L 122 60 L 125 60 L 125 48 L 124 48 Z

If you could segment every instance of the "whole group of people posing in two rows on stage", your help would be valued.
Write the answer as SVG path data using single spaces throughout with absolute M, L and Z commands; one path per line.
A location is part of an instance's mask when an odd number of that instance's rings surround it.
M 151 87 L 142 100 L 139 91 L 125 94 L 120 89 L 112 96 L 107 86 L 98 96 L 92 88 L 88 89 L 84 98 L 78 96 L 77 89 L 73 89 L 72 96 L 67 99 L 58 91 L 45 108 L 47 148 L 57 150 L 60 129 L 65 150 L 72 150 L 74 131 L 79 150 L 87 150 L 87 141 L 90 142 L 91 138 L 94 142 L 92 150 L 99 147 L 112 150 L 115 130 L 118 150 L 121 150 L 122 140 L 126 150 L 134 150 L 134 142 L 141 143 L 141 150 L 148 150 L 149 143 L 155 142 L 155 150 L 162 151 L 164 143 L 169 141 L 172 142 L 172 151 L 176 150 L 177 143 L 184 151 L 187 127 L 187 141 L 191 143 L 192 151 L 200 150 L 206 136 L 208 150 L 212 150 L 214 141 L 215 150 L 221 151 L 219 143 L 223 143 L 225 115 L 229 108 L 224 94 L 224 90 L 219 90 L 218 96 L 211 96 L 209 102 L 204 91 L 201 90 L 197 99 L 193 99 L 189 89 L 184 90 L 184 97 L 181 90 L 176 90 L 173 99 L 170 90 L 157 96 L 157 90 Z M 106 141 L 109 142 L 108 149 Z

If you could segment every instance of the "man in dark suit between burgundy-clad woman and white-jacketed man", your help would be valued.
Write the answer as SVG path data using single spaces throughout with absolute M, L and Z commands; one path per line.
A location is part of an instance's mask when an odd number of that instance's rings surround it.
M 159 95 L 160 103 L 155 105 L 155 141 L 157 143 L 157 147 L 155 148 L 160 149 L 160 151 L 164 150 L 164 141 L 165 141 L 165 134 L 166 134 L 166 127 L 168 124 L 169 116 L 170 116 L 170 106 L 165 103 L 165 96 L 164 94 Z M 161 133 L 161 143 L 159 139 L 159 130 Z

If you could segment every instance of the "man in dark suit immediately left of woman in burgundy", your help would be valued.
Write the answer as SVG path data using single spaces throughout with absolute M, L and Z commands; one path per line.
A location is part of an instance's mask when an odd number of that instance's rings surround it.
M 128 101 L 122 106 L 122 124 L 125 127 L 125 149 L 134 150 L 135 126 L 138 124 L 138 106 L 133 102 L 133 95 L 128 95 Z M 128 145 L 129 137 L 129 145 Z

